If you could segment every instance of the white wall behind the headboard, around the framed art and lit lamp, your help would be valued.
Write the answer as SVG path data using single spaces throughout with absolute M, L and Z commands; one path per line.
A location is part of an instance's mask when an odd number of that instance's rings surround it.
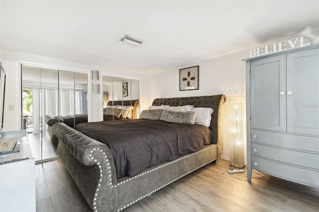
M 174 70 L 142 77 L 141 109 L 152 105 L 155 98 L 226 95 L 227 102 L 243 102 L 246 96 L 246 65 L 242 59 L 249 57 L 249 51 L 241 51 L 218 58 L 189 64 Z M 199 90 L 179 91 L 179 69 L 199 65 Z M 228 104 L 222 110 L 222 158 L 229 160 Z M 244 108 L 244 150 L 246 161 L 246 109 Z

